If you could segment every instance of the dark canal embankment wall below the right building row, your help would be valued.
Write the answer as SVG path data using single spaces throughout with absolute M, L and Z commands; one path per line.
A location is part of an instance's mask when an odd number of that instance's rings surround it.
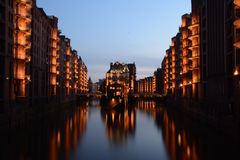
M 240 140 L 240 121 L 224 100 L 195 100 L 166 98 L 166 106 L 189 117 L 195 123 L 202 123 L 221 134 Z

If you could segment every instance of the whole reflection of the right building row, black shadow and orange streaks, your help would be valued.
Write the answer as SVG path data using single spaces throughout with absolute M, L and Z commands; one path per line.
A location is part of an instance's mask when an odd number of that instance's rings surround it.
M 167 109 L 160 102 L 142 100 L 137 103 L 137 108 L 151 115 L 162 132 L 165 148 L 172 160 L 239 158 L 239 144 L 230 137 L 203 124 L 195 124 L 176 111 Z

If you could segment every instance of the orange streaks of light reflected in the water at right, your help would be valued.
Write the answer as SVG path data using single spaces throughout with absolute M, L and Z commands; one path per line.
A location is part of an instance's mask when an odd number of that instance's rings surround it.
M 137 109 L 151 115 L 157 127 L 162 130 L 165 147 L 172 160 L 200 159 L 196 137 L 189 137 L 190 134 L 180 123 L 176 125 L 175 120 L 160 102 L 140 100 Z

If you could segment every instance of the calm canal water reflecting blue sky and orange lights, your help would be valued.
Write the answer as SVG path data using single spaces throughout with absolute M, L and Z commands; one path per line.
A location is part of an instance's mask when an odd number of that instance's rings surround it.
M 122 112 L 99 101 L 0 134 L 0 159 L 240 159 L 238 144 L 155 101 Z

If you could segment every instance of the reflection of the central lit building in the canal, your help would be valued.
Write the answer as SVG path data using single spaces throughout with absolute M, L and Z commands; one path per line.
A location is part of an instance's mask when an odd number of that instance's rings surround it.
M 123 111 L 101 109 L 107 137 L 114 144 L 123 144 L 135 135 L 136 111 L 133 108 Z

